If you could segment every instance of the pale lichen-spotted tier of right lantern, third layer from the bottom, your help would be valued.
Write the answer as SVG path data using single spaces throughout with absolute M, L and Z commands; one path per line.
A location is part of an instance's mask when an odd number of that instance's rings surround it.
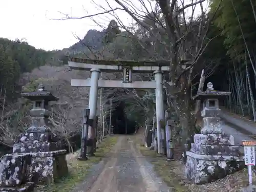
M 234 137 L 227 134 L 196 134 L 194 141 L 196 144 L 234 145 Z

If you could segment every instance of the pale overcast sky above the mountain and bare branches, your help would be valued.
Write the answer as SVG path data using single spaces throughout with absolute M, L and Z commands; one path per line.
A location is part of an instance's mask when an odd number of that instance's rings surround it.
M 104 0 L 94 0 L 94 2 L 108 9 Z M 113 0 L 108 2 L 113 8 L 117 7 Z M 83 38 L 88 30 L 101 30 L 102 28 L 90 18 L 69 20 L 52 20 L 52 18 L 63 17 L 59 12 L 73 17 L 98 13 L 101 10 L 97 9 L 98 6 L 95 3 L 92 0 L 2 0 L 0 3 L 0 37 L 12 40 L 25 38 L 37 49 L 69 48 L 77 42 L 73 34 Z M 138 4 L 136 7 L 140 9 Z M 119 13 L 125 25 L 132 23 L 132 19 L 124 12 L 116 13 Z M 110 15 L 95 17 L 101 25 L 108 25 L 112 18 L 114 17 Z

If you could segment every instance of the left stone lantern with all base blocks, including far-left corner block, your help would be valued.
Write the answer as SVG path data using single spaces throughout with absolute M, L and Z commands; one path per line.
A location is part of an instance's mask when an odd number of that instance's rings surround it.
M 58 100 L 40 85 L 37 92 L 23 93 L 33 101 L 32 124 L 13 145 L 13 154 L 1 158 L 0 191 L 31 191 L 34 183 L 49 184 L 68 174 L 66 150 L 52 133 L 48 103 Z

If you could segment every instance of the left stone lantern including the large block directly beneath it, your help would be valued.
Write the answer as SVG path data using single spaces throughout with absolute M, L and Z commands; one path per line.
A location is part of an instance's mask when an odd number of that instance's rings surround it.
M 13 154 L 30 154 L 29 180 L 34 183 L 49 183 L 68 173 L 66 150 L 62 150 L 61 140 L 52 132 L 48 122 L 49 102 L 58 98 L 45 91 L 42 84 L 32 93 L 23 97 L 33 101 L 30 110 L 31 126 L 26 133 L 20 134 L 13 145 Z

